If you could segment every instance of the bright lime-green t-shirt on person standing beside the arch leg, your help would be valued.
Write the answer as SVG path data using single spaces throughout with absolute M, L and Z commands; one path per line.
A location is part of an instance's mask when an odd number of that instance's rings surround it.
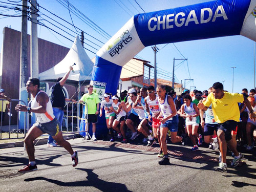
M 84 94 L 81 98 L 82 101 L 88 104 L 88 114 L 95 114 L 97 111 L 97 103 L 99 103 L 99 98 L 97 94 L 93 93 L 92 95 Z M 84 111 L 87 114 L 87 108 Z

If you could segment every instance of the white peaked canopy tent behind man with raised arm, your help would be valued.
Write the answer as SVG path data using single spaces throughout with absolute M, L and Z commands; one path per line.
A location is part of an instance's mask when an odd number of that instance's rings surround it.
M 78 81 L 83 82 L 84 80 L 90 82 L 94 63 L 84 51 L 78 36 L 66 57 L 53 68 L 40 73 L 39 80 L 45 82 L 56 81 L 58 77 L 63 77 L 69 70 L 69 66 L 72 65 L 74 65 L 74 73 L 70 72 L 67 83 L 77 84 Z

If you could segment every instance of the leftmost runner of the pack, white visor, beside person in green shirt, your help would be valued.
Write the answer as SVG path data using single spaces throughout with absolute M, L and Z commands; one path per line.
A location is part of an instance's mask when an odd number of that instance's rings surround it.
M 113 100 L 110 99 L 111 94 L 110 93 L 105 93 L 103 95 L 104 100 L 100 104 L 100 111 L 99 111 L 99 116 L 102 116 L 102 110 L 104 107 L 105 110 L 105 118 L 106 118 L 106 126 L 110 130 L 111 133 L 111 139 L 110 141 L 114 141 L 114 131 L 112 129 L 113 122 L 115 120 L 116 114 L 110 110 L 110 107 L 112 106 Z

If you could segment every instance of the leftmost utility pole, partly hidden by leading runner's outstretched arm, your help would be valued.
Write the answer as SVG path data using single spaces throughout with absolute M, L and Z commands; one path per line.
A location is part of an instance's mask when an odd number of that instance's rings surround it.
M 20 40 L 20 72 L 19 72 L 19 100 L 25 101 L 28 104 L 28 93 L 26 90 L 27 82 L 27 67 L 28 67 L 28 9 L 27 0 L 22 1 L 22 33 Z M 19 128 L 24 127 L 25 119 L 22 113 L 19 113 Z

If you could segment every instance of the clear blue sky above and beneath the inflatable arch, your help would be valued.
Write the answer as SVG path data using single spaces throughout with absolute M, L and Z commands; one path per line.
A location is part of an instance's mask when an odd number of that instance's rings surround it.
M 20 5 L 19 0 L 12 0 L 12 4 Z M 11 3 L 8 0 L 2 2 Z M 59 26 L 65 29 L 66 32 L 76 36 L 75 33 L 80 34 L 80 31 L 75 30 L 71 25 L 63 22 L 63 20 L 52 15 L 48 11 L 55 15 L 74 23 L 74 26 L 83 30 L 87 34 L 84 34 L 86 38 L 84 42 L 93 46 L 94 48 L 84 45 L 85 48 L 96 53 L 103 43 L 113 36 L 133 15 L 138 13 L 152 12 L 164 9 L 172 9 L 176 7 L 182 7 L 187 5 L 193 5 L 198 3 L 209 2 L 206 0 L 69 0 L 70 10 L 67 9 L 68 0 L 37 0 L 39 4 L 39 22 L 46 26 L 58 31 L 60 34 L 65 35 L 72 41 L 75 39 L 69 34 L 65 33 L 52 26 L 48 21 L 54 23 L 52 19 L 61 23 L 63 26 Z M 137 4 L 137 3 L 139 4 Z M 0 3 L 1 5 L 7 5 Z M 28 3 L 28 5 L 30 5 Z M 74 6 L 80 14 L 74 14 L 72 10 Z M 9 5 L 14 6 L 14 5 Z M 66 6 L 66 7 L 65 7 Z M 139 7 L 140 6 L 140 7 Z M 15 7 L 15 6 L 14 6 Z M 18 7 L 18 6 L 17 6 Z M 46 11 L 46 10 L 48 11 Z M 143 11 L 143 10 L 144 11 Z M 14 15 L 20 13 L 19 11 L 7 11 L 5 8 L 0 7 L 0 13 Z M 44 15 L 45 14 L 45 15 Z M 71 16 L 70 16 L 71 14 Z M 88 17 L 94 24 L 99 26 L 109 35 L 101 35 L 92 27 L 92 24 L 88 25 L 88 20 L 80 18 L 81 14 Z M 48 17 L 47 17 L 48 16 Z M 50 18 L 49 18 L 50 17 Z M 80 17 L 80 18 L 79 18 Z M 72 18 L 72 19 L 71 19 Z M 10 27 L 12 29 L 21 30 L 21 17 L 5 17 L 0 15 L 0 30 L 3 31 L 4 27 Z M 28 22 L 28 33 L 30 34 L 30 25 Z M 74 32 L 72 32 L 74 31 Z M 92 38 L 91 36 L 94 38 Z M 54 42 L 56 44 L 71 48 L 73 42 L 64 38 L 57 33 L 47 29 L 44 26 L 38 26 L 38 37 Z M 96 40 L 98 39 L 98 40 Z M 93 41 L 92 44 L 90 41 Z M 2 49 L 3 33 L 0 33 L 0 45 Z M 96 44 L 96 45 L 95 45 Z M 178 50 L 175 48 L 178 48 Z M 171 80 L 173 71 L 173 59 L 187 58 L 187 62 L 184 61 L 175 69 L 176 82 L 184 84 L 184 79 L 194 79 L 193 81 L 186 80 L 186 88 L 194 90 L 194 86 L 197 90 L 207 90 L 212 86 L 214 82 L 222 82 L 224 89 L 232 92 L 232 77 L 233 77 L 233 92 L 241 93 L 243 88 L 248 90 L 253 89 L 254 77 L 253 77 L 253 53 L 254 53 L 254 41 L 243 36 L 229 36 L 211 39 L 202 39 L 194 41 L 176 42 L 175 44 L 162 44 L 157 45 L 159 51 L 157 52 L 157 67 L 158 78 L 164 78 Z M 1 50 L 0 50 L 1 52 Z M 95 56 L 94 53 L 86 50 L 90 58 Z M 184 57 L 183 57 L 184 56 Z M 143 49 L 136 57 L 151 61 L 154 66 L 154 52 L 151 47 Z M 181 61 L 175 60 L 175 64 L 178 65 Z M 39 64 L 40 65 L 40 64 Z M 236 67 L 232 69 L 231 67 Z M 188 70 L 189 69 L 189 70 Z M 234 72 L 234 75 L 233 75 Z M 153 74 L 152 74 L 153 75 Z

